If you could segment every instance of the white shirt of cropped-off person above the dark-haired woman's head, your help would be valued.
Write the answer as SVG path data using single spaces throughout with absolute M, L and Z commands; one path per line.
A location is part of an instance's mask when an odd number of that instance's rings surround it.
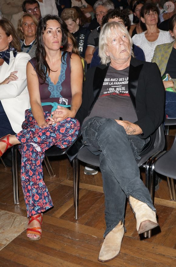
M 39 6 L 42 16 L 45 16 L 46 14 L 58 16 L 58 10 L 56 7 L 55 0 L 43 0 L 43 2 L 39 2 Z

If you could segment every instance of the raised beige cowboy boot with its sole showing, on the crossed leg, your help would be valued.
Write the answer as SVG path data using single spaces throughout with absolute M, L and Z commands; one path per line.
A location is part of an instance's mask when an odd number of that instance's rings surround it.
M 130 206 L 136 217 L 136 228 L 138 234 L 147 232 L 159 224 L 157 222 L 156 213 L 144 202 L 129 197 Z

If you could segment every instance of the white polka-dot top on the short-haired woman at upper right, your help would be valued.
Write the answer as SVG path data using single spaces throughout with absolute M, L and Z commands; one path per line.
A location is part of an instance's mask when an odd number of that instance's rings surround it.
M 151 62 L 154 55 L 155 47 L 159 44 L 171 43 L 173 42 L 174 39 L 172 38 L 169 32 L 160 30 L 159 36 L 157 40 L 154 42 L 149 42 L 145 38 L 145 32 L 140 34 L 135 34 L 132 37 L 132 40 L 135 45 L 142 48 L 142 50 L 144 51 L 145 60 Z

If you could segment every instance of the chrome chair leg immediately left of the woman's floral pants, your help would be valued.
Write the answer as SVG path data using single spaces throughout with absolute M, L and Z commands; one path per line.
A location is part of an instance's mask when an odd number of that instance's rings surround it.
M 13 199 L 15 204 L 19 204 L 19 181 L 18 181 L 18 155 L 17 146 L 11 148 L 12 154 L 12 179 L 13 179 Z

